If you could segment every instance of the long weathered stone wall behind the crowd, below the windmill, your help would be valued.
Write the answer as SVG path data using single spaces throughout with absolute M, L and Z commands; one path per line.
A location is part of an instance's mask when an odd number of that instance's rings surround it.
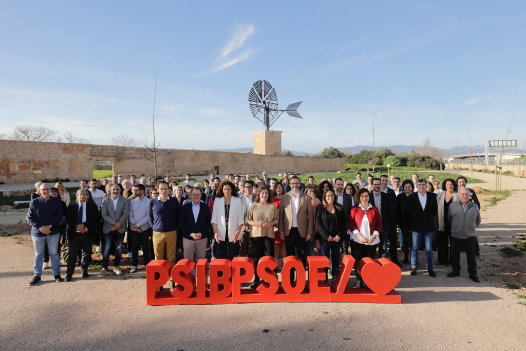
M 111 161 L 114 174 L 151 176 L 151 156 L 141 147 L 0 140 L 0 182 L 90 178 L 97 161 Z M 345 169 L 345 160 L 181 149 L 163 149 L 157 157 L 158 175 L 207 174 L 216 167 L 222 175 L 329 172 Z

